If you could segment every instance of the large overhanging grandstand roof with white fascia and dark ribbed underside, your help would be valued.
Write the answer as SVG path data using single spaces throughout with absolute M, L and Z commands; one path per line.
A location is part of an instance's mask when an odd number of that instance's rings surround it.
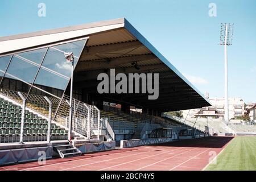
M 193 109 L 210 103 L 161 53 L 125 19 L 0 38 L 0 56 L 31 47 L 89 36 L 75 69 L 74 87 L 97 93 L 97 76 L 115 73 L 159 73 L 159 97 L 148 94 L 99 94 L 106 101 L 129 103 L 160 112 Z M 137 63 L 134 67 L 133 63 Z

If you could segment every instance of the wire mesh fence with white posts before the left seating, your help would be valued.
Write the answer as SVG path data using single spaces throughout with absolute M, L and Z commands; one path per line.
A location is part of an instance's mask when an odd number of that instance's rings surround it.
M 0 90 L 0 93 L 2 94 L 2 96 L 8 98 L 9 101 L 14 102 L 15 105 L 20 106 L 20 108 L 22 108 L 23 101 L 20 98 L 18 92 L 2 89 Z M 36 118 L 42 118 L 42 119 L 49 118 L 49 102 L 44 98 L 44 96 L 39 96 L 35 94 L 27 95 L 26 92 L 21 92 L 21 93 L 24 96 L 24 98 L 26 98 L 27 112 L 33 113 L 34 115 L 36 115 L 35 116 Z M 59 126 L 56 126 L 57 127 L 56 133 L 53 134 L 56 136 L 55 137 L 52 136 L 51 138 L 66 139 L 67 137 L 61 137 L 63 133 L 59 133 L 59 130 L 60 129 L 67 130 L 67 127 L 68 127 L 67 121 L 69 116 L 69 104 L 67 103 L 67 101 L 69 101 L 69 96 L 63 95 L 61 99 L 55 98 L 55 97 L 48 97 L 48 99 L 52 103 L 52 107 L 51 107 L 52 121 L 55 121 L 56 123 L 59 124 Z M 76 100 L 75 98 L 72 99 L 72 105 L 73 105 L 72 131 L 75 131 L 76 133 L 83 135 L 87 139 L 99 139 L 100 138 L 100 110 L 98 110 L 96 106 L 85 104 L 84 102 Z M 20 119 L 21 119 L 21 113 L 20 113 Z M 32 131 L 31 132 L 26 131 L 26 132 L 27 133 L 24 133 L 24 140 L 26 141 L 47 140 L 47 136 L 44 136 L 43 134 L 33 133 Z M 3 136 L 3 135 L 1 134 L 0 136 Z M 3 139 L 3 137 L 1 137 L 1 140 L 5 142 L 6 141 L 18 142 L 14 138 Z

